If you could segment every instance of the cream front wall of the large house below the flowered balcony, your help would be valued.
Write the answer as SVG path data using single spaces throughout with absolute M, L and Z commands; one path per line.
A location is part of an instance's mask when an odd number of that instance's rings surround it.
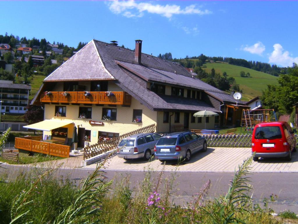
M 156 124 L 157 112 L 150 111 L 144 105 L 141 105 L 136 99 L 132 98 L 131 107 L 122 107 L 117 105 L 117 107 L 109 107 L 105 105 L 104 107 L 92 106 L 92 118 L 91 119 L 80 119 L 79 116 L 79 107 L 83 105 L 59 105 L 66 106 L 66 117 L 56 117 L 55 106 L 52 104 L 45 105 L 45 116 L 44 119 L 55 119 L 55 120 L 70 120 L 78 127 L 85 128 L 86 130 L 91 130 L 91 142 L 90 144 L 97 143 L 98 131 L 103 132 L 113 132 L 125 134 L 130 131 L 134 131 L 138 128 L 145 127 L 147 125 Z M 88 106 L 86 106 L 88 107 Z M 102 109 L 103 108 L 117 108 L 117 120 L 116 121 L 105 121 L 102 120 Z M 142 122 L 134 123 L 133 120 L 133 110 L 141 109 L 142 110 Z M 90 125 L 89 120 L 103 122 L 103 126 Z M 72 137 L 73 128 L 69 130 L 68 137 Z M 95 132 L 95 133 L 94 133 Z M 50 135 L 50 132 L 44 132 L 44 134 Z M 95 136 L 93 136 L 95 134 Z

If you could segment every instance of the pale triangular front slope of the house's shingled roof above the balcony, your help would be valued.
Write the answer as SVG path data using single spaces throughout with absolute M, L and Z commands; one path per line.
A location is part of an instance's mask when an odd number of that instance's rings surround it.
M 44 81 L 114 79 L 100 63 L 92 42 L 68 59 Z

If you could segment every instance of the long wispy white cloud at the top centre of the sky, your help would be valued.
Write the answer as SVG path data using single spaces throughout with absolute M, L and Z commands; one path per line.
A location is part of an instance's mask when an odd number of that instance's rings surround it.
M 142 17 L 143 12 L 158 14 L 167 18 L 171 18 L 173 15 L 189 15 L 189 14 L 198 14 L 198 15 L 206 15 L 211 14 L 212 12 L 209 10 L 200 10 L 196 8 L 195 4 L 189 5 L 184 9 L 181 9 L 179 5 L 160 5 L 160 4 L 152 4 L 147 2 L 138 2 L 136 3 L 134 0 L 129 1 L 109 1 L 107 3 L 109 5 L 109 9 L 115 13 L 122 13 L 123 16 L 128 18 L 130 17 Z

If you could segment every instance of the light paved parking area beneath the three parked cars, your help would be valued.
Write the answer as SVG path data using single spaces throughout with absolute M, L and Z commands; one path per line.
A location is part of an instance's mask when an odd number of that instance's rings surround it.
M 292 161 L 284 159 L 261 159 L 259 162 L 252 162 L 253 172 L 298 172 L 298 152 L 292 154 Z M 198 152 L 192 155 L 189 162 L 182 162 L 178 171 L 187 172 L 234 172 L 243 160 L 251 156 L 251 148 L 208 148 L 207 152 Z M 177 162 L 166 161 L 165 171 L 175 169 Z M 142 159 L 131 159 L 125 161 L 117 156 L 111 158 L 106 168 L 109 170 L 134 170 L 143 171 L 148 168 L 154 171 L 162 169 L 163 163 L 153 158 L 152 161 Z M 96 164 L 84 168 L 95 168 Z

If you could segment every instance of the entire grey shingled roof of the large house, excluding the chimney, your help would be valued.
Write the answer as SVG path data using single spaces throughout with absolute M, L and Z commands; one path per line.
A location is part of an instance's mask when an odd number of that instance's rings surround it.
M 200 111 L 206 109 L 219 112 L 196 99 L 157 95 L 146 88 L 146 81 L 204 90 L 219 100 L 234 102 L 229 94 L 199 79 L 192 78 L 191 73 L 177 63 L 142 53 L 142 65 L 139 65 L 134 61 L 134 56 L 135 52 L 132 50 L 93 40 L 44 81 L 116 79 L 116 84 L 120 88 L 151 110 Z M 100 61 L 108 72 L 104 70 Z

